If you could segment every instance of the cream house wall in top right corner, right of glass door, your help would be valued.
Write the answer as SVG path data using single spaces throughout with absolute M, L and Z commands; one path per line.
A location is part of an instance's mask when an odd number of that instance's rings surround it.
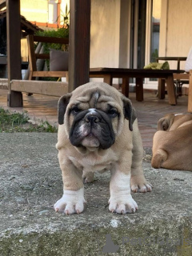
M 159 56 L 187 56 L 192 46 L 192 1 L 162 0 Z M 185 62 L 182 62 L 183 68 Z M 176 62 L 170 62 L 176 68 Z

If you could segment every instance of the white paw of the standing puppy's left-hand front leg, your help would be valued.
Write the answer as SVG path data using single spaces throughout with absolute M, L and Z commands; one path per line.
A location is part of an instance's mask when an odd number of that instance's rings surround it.
M 65 214 L 80 214 L 84 210 L 85 203 L 83 188 L 77 191 L 64 190 L 62 198 L 54 204 L 54 210 Z

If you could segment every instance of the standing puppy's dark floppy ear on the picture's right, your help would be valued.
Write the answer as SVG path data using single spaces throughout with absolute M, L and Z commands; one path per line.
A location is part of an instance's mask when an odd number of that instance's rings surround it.
M 134 110 L 129 98 L 123 97 L 122 102 L 125 118 L 129 120 L 129 128 L 132 131 L 134 120 L 137 118 L 136 111 Z

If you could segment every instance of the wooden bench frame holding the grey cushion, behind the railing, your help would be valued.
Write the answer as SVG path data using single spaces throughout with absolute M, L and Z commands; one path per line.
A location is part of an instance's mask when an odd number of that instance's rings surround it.
M 37 60 L 38 59 L 49 59 L 50 54 L 36 54 L 34 49 L 34 42 L 46 42 L 46 43 L 59 43 L 59 44 L 69 44 L 69 38 L 54 38 L 54 37 L 44 37 L 36 35 L 27 36 L 27 44 L 29 51 L 29 65 L 30 65 L 30 74 L 29 80 L 34 80 L 37 77 L 51 77 L 51 78 L 61 78 L 67 77 L 67 71 L 40 71 L 37 69 Z

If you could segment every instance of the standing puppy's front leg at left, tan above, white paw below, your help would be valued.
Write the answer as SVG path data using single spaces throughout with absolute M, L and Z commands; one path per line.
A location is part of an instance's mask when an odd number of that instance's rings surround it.
M 66 214 L 79 214 L 84 210 L 84 188 L 82 171 L 78 170 L 69 160 L 60 162 L 62 169 L 63 196 L 54 204 L 55 211 Z

